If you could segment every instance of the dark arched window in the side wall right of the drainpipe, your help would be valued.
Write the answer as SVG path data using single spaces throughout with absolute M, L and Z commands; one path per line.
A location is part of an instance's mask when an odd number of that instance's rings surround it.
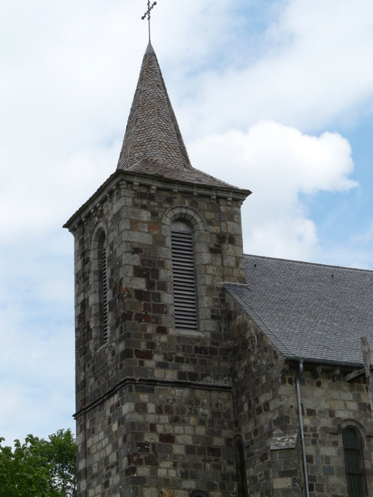
M 355 427 L 343 430 L 343 447 L 349 497 L 367 495 L 361 436 Z

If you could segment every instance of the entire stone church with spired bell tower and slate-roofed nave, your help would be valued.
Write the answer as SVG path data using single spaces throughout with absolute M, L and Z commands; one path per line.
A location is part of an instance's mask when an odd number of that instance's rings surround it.
M 149 42 L 118 167 L 64 225 L 78 497 L 373 495 L 373 272 L 244 254 L 250 193 L 192 167 Z

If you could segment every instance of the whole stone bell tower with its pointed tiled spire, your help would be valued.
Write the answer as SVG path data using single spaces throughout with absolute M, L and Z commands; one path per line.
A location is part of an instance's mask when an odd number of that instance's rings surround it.
M 192 167 L 149 43 L 118 168 L 64 225 L 79 497 L 237 492 L 223 283 L 249 194 Z

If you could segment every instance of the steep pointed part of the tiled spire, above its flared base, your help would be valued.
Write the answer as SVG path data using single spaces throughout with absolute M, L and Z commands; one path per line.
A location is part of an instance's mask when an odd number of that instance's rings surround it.
M 158 60 L 149 42 L 141 67 L 118 169 L 191 170 L 176 116 L 171 106 Z

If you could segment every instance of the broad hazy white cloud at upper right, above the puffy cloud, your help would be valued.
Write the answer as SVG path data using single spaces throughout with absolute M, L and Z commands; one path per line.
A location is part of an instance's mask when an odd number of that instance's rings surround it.
M 284 2 L 254 61 L 238 47 L 241 66 L 200 75 L 185 101 L 189 132 L 246 130 L 261 119 L 308 131 L 371 112 L 372 28 L 370 0 Z

